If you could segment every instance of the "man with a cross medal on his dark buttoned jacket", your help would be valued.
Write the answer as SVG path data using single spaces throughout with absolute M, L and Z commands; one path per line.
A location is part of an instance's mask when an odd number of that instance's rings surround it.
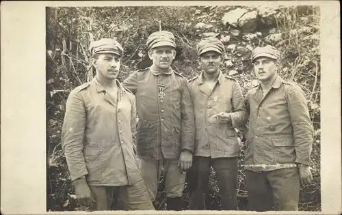
M 186 171 L 194 152 L 194 109 L 187 80 L 170 67 L 174 35 L 152 33 L 146 42 L 153 65 L 133 72 L 123 85 L 137 100 L 137 155 L 150 199 L 155 201 L 163 166 L 167 210 L 182 210 Z

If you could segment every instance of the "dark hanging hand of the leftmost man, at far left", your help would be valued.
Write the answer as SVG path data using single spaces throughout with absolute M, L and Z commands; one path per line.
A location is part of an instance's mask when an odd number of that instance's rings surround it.
M 95 203 L 95 200 L 92 197 L 92 192 L 86 182 L 86 178 L 80 177 L 74 181 L 74 184 L 75 194 L 79 203 L 83 206 L 91 207 L 92 204 Z

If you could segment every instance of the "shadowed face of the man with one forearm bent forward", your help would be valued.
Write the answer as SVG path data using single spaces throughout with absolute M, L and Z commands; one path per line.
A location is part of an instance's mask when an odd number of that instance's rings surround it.
M 215 74 L 220 68 L 222 58 L 221 55 L 215 51 L 207 51 L 200 55 L 198 61 L 207 74 Z

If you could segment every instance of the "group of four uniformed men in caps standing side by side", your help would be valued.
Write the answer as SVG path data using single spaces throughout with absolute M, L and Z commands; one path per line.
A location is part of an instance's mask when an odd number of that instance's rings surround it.
M 79 203 L 90 210 L 155 210 L 163 173 L 167 210 L 182 210 L 185 180 L 190 210 L 205 210 L 212 166 L 222 210 L 237 210 L 239 128 L 246 136 L 248 209 L 274 210 L 278 202 L 280 210 L 298 210 L 300 181 L 313 180 L 313 126 L 302 89 L 276 72 L 276 48 L 252 51 L 259 85 L 244 98 L 239 83 L 220 70 L 220 40 L 198 43 L 202 72 L 189 81 L 171 68 L 172 33 L 152 33 L 146 45 L 153 65 L 120 83 L 122 46 L 109 38 L 90 44 L 96 76 L 71 91 L 62 129 Z

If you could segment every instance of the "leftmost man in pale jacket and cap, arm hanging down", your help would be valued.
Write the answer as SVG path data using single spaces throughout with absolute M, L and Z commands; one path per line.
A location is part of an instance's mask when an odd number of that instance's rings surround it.
M 62 146 L 77 199 L 90 210 L 155 210 L 133 152 L 135 97 L 116 79 L 122 46 L 90 45 L 96 76 L 66 101 Z

